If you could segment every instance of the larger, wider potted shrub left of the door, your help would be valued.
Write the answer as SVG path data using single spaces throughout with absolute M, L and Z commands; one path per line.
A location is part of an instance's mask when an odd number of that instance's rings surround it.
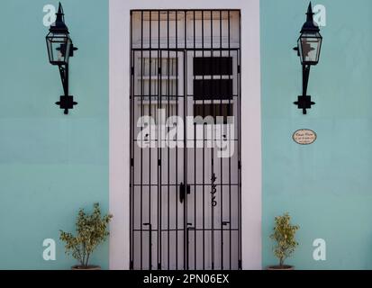
M 72 255 L 79 262 L 78 265 L 72 266 L 72 270 L 100 270 L 100 266 L 89 265 L 89 257 L 92 255 L 95 247 L 109 235 L 107 230 L 113 215 L 104 215 L 101 217 L 99 203 L 94 204 L 94 211 L 86 214 L 83 209 L 78 211 L 77 215 L 77 236 L 72 233 L 59 230 L 59 238 L 66 242 L 66 254 Z

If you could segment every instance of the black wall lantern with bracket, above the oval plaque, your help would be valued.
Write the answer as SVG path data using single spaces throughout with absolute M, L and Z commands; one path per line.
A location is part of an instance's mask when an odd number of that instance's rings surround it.
M 318 64 L 322 48 L 322 35 L 319 33 L 319 26 L 313 22 L 311 2 L 306 15 L 306 22 L 297 40 L 297 47 L 294 48 L 301 59 L 303 67 L 303 94 L 298 96 L 295 105 L 297 105 L 298 109 L 302 109 L 304 114 L 306 114 L 306 109 L 311 109 L 312 105 L 315 104 L 312 102 L 312 97 L 307 95 L 307 84 L 309 82 L 310 67 Z

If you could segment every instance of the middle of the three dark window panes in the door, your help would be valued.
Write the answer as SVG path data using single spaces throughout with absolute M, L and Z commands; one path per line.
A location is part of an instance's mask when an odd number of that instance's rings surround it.
M 195 79 L 194 100 L 232 98 L 232 79 Z

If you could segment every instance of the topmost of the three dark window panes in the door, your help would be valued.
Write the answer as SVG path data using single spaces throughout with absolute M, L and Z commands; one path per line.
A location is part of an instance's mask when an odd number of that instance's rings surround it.
M 195 57 L 194 75 L 232 75 L 231 57 Z

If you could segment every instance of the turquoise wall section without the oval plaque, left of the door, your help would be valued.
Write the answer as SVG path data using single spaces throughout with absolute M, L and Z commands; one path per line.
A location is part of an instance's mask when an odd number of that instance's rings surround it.
M 108 209 L 108 1 L 63 1 L 78 47 L 68 116 L 54 104 L 62 86 L 47 57 L 44 4 L 58 1 L 0 4 L 0 269 L 68 269 L 75 261 L 59 229 L 74 229 L 79 207 Z M 44 238 L 56 240 L 56 261 L 43 260 Z M 107 268 L 108 243 L 92 263 Z

